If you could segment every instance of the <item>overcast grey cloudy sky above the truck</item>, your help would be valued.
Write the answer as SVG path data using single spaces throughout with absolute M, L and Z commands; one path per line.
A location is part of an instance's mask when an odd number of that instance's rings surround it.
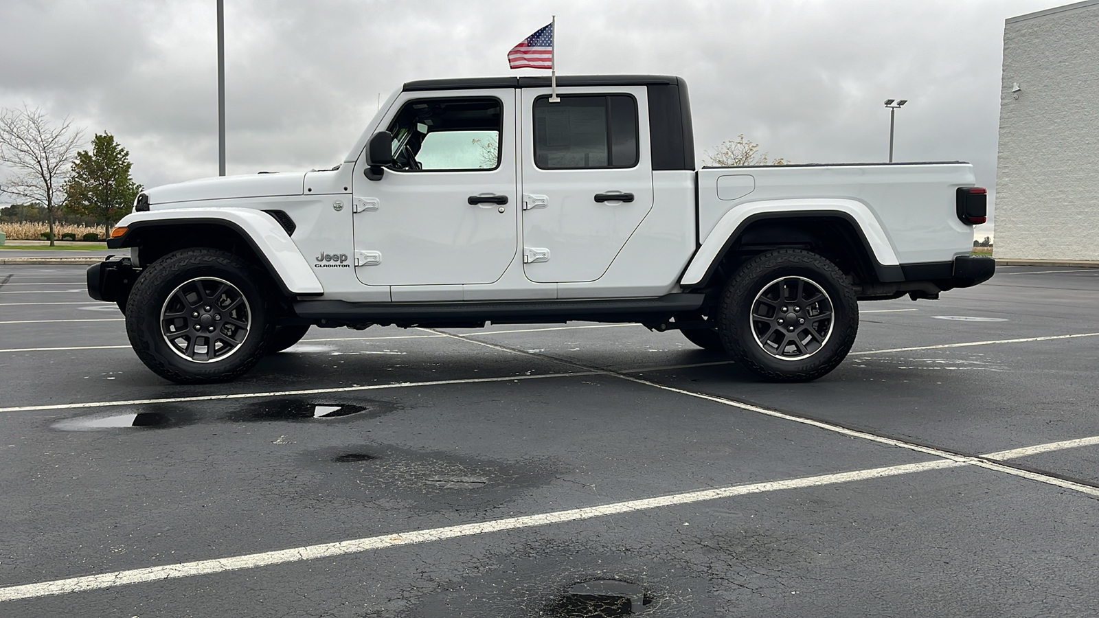
M 227 172 L 338 163 L 402 81 L 509 70 L 557 15 L 567 74 L 673 74 L 699 155 L 744 133 L 795 163 L 963 159 L 995 188 L 1003 20 L 1065 0 L 225 0 Z M 130 150 L 146 186 L 218 174 L 214 0 L 3 0 L 0 107 Z M 704 161 L 700 158 L 700 162 Z M 7 203 L 0 197 L 0 203 Z

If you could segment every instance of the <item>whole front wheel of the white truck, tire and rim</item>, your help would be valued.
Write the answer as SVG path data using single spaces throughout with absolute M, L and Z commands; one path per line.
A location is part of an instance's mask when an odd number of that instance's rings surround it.
M 142 272 L 126 301 L 126 334 L 157 375 L 179 384 L 229 382 L 270 346 L 265 273 L 236 255 L 188 249 Z

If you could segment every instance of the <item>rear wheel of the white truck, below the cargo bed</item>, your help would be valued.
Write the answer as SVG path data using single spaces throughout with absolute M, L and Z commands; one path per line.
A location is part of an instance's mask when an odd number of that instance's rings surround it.
M 768 295 L 776 294 L 778 300 L 770 300 Z M 824 306 L 831 323 L 821 318 Z M 795 329 L 789 335 L 787 324 Z M 759 377 L 809 382 L 834 369 L 851 351 L 858 301 L 844 274 L 824 257 L 799 249 L 769 251 L 744 263 L 725 285 L 718 330 L 733 358 Z

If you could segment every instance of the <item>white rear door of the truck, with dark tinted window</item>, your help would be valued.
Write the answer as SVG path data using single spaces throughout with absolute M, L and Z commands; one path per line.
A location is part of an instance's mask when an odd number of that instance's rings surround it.
M 646 90 L 558 93 L 551 102 L 548 88 L 522 90 L 524 272 L 593 282 L 653 208 Z

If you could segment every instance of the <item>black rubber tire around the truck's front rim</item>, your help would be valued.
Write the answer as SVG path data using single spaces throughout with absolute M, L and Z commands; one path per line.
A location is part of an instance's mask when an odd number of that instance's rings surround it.
M 245 307 L 246 325 L 245 333 L 241 334 L 241 341 L 235 347 L 229 347 L 230 352 L 223 357 L 201 360 L 199 350 L 203 346 L 198 343 L 190 345 L 186 350 L 173 346 L 168 341 L 168 334 L 162 329 L 165 325 L 165 316 L 173 314 L 169 308 L 169 300 L 177 298 L 181 286 L 192 286 L 187 288 L 195 296 L 197 283 L 221 282 L 227 284 L 229 288 L 222 296 L 226 306 L 230 305 L 229 296 L 232 291 L 237 298 L 243 298 Z M 177 384 L 202 384 L 214 382 L 230 382 L 236 379 L 251 369 L 271 345 L 275 333 L 275 321 L 273 310 L 275 302 L 270 298 L 274 285 L 266 273 L 245 262 L 241 257 L 213 249 L 186 249 L 177 251 L 165 257 L 157 260 L 145 268 L 126 300 L 126 334 L 130 344 L 133 346 L 137 357 L 154 373 Z M 217 285 L 210 284 L 206 288 L 209 294 L 214 294 Z M 202 293 L 206 294 L 206 293 Z M 179 295 L 187 296 L 185 294 Z M 174 301 L 175 302 L 175 301 Z M 242 304 L 235 304 L 240 307 Z M 202 312 L 203 307 L 195 305 L 191 307 L 196 312 Z M 238 309 L 237 309 L 238 310 Z M 189 310 L 188 310 L 189 311 Z M 210 318 L 213 318 L 210 311 Z M 232 311 L 232 309 L 231 309 Z M 206 314 L 202 313 L 203 319 Z M 218 320 L 222 317 L 218 314 Z M 226 316 L 226 324 L 229 317 Z M 197 322 L 196 322 L 197 323 Z M 211 325 L 221 328 L 223 322 L 212 322 Z M 234 327 L 226 325 L 232 329 Z M 184 339 L 184 332 L 178 331 L 177 341 Z M 191 333 L 189 336 L 199 335 L 206 340 L 206 354 L 217 355 L 217 345 L 223 345 L 223 339 L 218 339 L 221 331 L 214 332 L 212 338 L 204 330 Z M 188 356 L 191 354 L 191 356 Z M 196 360 L 200 358 L 200 360 Z

